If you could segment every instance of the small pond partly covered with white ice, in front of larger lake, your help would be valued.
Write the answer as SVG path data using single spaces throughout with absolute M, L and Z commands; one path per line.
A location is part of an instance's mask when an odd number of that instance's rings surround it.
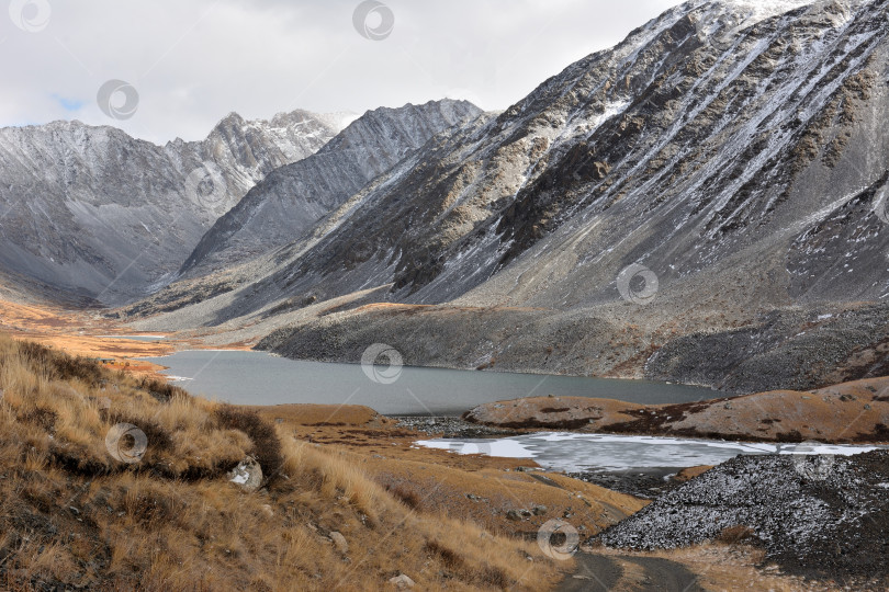
M 880 446 L 768 444 L 659 436 L 545 432 L 497 440 L 439 439 L 416 443 L 457 454 L 533 458 L 543 468 L 565 473 L 626 471 L 718 465 L 739 454 L 851 455 Z

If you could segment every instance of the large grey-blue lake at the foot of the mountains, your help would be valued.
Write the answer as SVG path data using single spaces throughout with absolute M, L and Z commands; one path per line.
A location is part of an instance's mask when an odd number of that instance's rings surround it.
M 644 380 L 408 366 L 394 373 L 382 366 L 378 374 L 382 382 L 375 382 L 359 364 L 297 362 L 252 351 L 191 350 L 145 360 L 167 366 L 165 374 L 177 385 L 210 399 L 235 405 L 365 405 L 384 414 L 460 415 L 484 402 L 547 395 L 638 403 L 727 396 L 707 388 Z

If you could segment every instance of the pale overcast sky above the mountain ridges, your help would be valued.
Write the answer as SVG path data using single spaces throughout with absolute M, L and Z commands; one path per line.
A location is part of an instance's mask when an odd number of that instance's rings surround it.
M 363 113 L 442 96 L 502 110 L 677 0 L 5 3 L 0 125 L 80 119 L 164 143 L 200 139 L 232 111 Z

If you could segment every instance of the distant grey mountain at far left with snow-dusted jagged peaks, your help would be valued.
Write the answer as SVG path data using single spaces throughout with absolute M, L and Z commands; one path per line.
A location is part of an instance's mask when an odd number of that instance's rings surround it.
M 202 141 L 162 147 L 79 122 L 0 129 L 0 270 L 67 300 L 145 295 L 247 190 L 342 125 L 233 113 Z

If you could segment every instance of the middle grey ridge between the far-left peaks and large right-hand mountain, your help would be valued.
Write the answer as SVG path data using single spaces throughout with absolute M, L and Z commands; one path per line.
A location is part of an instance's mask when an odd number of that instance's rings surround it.
M 185 261 L 190 275 L 285 246 L 436 134 L 481 114 L 466 101 L 369 111 L 315 155 L 281 167 L 222 216 Z

